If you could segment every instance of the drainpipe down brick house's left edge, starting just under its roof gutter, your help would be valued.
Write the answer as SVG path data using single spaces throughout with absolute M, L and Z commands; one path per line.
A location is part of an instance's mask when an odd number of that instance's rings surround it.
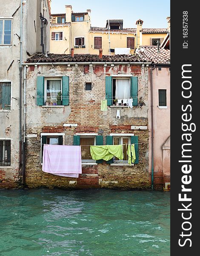
M 24 119 L 23 119 L 23 186 L 25 186 L 25 150 L 26 150 L 26 66 L 24 66 Z

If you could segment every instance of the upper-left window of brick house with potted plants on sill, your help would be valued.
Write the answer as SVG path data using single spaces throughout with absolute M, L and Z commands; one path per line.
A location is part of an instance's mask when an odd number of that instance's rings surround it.
M 45 101 L 57 103 L 58 96 L 60 93 L 62 93 L 61 78 L 47 78 L 45 85 L 46 85 Z M 60 100 L 60 102 L 57 105 L 61 105 L 61 96 L 60 96 L 59 100 Z

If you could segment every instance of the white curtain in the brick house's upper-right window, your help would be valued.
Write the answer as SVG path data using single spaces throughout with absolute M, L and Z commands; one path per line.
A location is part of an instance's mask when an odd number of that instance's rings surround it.
M 115 99 L 128 99 L 130 96 L 130 79 L 116 79 Z

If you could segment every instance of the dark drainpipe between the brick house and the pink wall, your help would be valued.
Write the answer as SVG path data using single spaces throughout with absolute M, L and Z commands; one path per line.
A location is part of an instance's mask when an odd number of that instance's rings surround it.
M 154 189 L 154 110 L 153 110 L 153 75 L 152 71 L 156 65 L 150 70 L 150 84 L 151 84 L 151 189 Z

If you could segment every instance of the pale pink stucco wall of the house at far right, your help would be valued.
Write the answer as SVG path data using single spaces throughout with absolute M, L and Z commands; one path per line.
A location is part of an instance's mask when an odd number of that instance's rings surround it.
M 162 187 L 170 177 L 170 71 L 169 67 L 153 70 L 153 111 L 154 111 L 154 184 Z M 150 69 L 149 69 L 150 79 Z M 151 88 L 149 87 L 149 179 L 151 180 Z M 166 89 L 167 108 L 159 108 L 158 90 Z M 169 140 L 168 140 L 169 139 Z M 163 149 L 167 143 L 168 149 Z M 164 173 L 163 173 L 164 170 Z

